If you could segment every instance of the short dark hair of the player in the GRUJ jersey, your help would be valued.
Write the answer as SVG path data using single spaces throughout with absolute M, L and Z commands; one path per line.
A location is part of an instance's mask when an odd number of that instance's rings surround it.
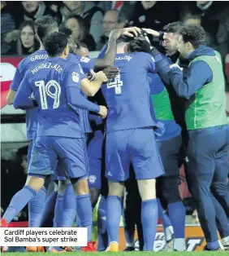
M 41 42 L 45 41 L 50 33 L 58 29 L 58 23 L 51 15 L 45 15 L 35 20 L 35 31 Z

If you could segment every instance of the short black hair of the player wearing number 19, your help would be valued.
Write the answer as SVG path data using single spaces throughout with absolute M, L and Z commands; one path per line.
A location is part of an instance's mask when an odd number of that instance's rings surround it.
M 51 33 L 45 39 L 44 46 L 51 57 L 61 55 L 64 48 L 67 47 L 67 35 L 61 32 Z

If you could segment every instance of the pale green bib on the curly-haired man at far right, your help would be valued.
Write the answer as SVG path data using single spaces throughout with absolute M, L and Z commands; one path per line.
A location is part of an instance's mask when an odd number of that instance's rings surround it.
M 226 96 L 221 57 L 215 51 L 215 56 L 203 55 L 192 60 L 190 64 L 197 60 L 203 60 L 210 66 L 213 79 L 188 99 L 185 113 L 188 130 L 225 125 Z

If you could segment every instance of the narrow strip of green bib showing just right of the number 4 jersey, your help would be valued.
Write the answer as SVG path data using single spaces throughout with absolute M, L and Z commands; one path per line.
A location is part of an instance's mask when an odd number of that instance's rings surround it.
M 155 116 L 158 120 L 174 120 L 171 100 L 166 87 L 158 95 L 151 95 Z

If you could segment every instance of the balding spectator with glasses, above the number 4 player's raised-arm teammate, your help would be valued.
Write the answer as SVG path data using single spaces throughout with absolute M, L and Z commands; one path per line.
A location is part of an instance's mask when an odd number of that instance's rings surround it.
M 123 29 L 126 21 L 126 18 L 118 10 L 112 9 L 110 11 L 106 11 L 102 22 L 103 35 L 99 42 L 97 42 L 98 51 L 100 51 L 102 46 L 104 46 L 108 41 L 110 31 L 113 29 Z

